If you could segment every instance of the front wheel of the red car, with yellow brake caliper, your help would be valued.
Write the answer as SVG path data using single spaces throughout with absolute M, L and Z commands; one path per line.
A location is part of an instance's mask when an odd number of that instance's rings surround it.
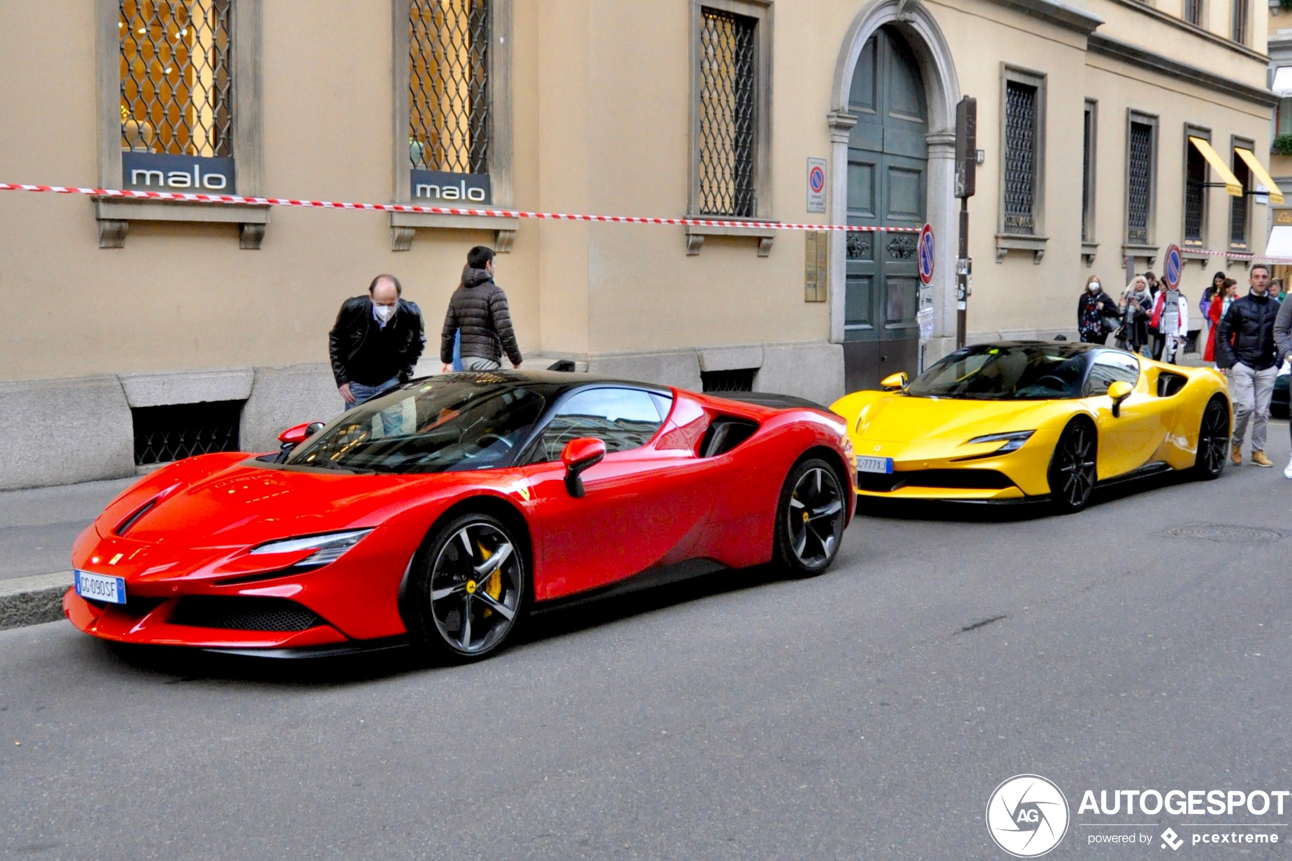
M 513 525 L 483 512 L 437 528 L 408 574 L 410 642 L 439 662 L 477 661 L 503 648 L 530 603 L 521 538 Z M 491 562 L 499 554 L 503 560 Z

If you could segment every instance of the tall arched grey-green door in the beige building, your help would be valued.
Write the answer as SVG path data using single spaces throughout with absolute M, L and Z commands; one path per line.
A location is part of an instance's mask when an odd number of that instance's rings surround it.
M 920 227 L 929 161 L 920 67 L 902 35 L 880 27 L 862 49 L 849 93 L 848 223 Z M 876 389 L 920 364 L 920 275 L 915 234 L 850 232 L 844 314 L 849 391 Z

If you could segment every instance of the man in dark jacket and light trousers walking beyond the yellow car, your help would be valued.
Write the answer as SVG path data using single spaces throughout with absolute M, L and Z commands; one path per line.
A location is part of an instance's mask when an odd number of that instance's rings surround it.
M 1248 272 L 1251 292 L 1234 299 L 1216 325 L 1216 361 L 1229 374 L 1229 392 L 1234 400 L 1234 438 L 1230 460 L 1243 462 L 1243 438 L 1252 422 L 1252 463 L 1274 466 L 1265 457 L 1265 429 L 1270 421 L 1270 395 L 1279 373 L 1274 324 L 1279 303 L 1269 297 L 1270 270 L 1253 263 Z

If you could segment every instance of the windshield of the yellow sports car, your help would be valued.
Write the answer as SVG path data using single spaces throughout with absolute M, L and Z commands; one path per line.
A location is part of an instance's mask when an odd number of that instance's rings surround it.
M 1076 398 L 1084 374 L 1084 351 L 1044 343 L 983 343 L 943 358 L 920 374 L 907 394 L 972 400 Z

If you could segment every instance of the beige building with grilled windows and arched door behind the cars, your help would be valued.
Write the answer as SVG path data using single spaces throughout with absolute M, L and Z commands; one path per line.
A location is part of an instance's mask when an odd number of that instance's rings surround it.
M 273 447 L 341 405 L 327 332 L 394 272 L 426 372 L 465 252 L 527 356 L 829 401 L 955 334 L 953 117 L 978 99 L 970 338 L 1075 328 L 1090 274 L 1261 252 L 1256 0 L 65 0 L 0 5 L 0 181 L 540 212 L 535 222 L 0 194 L 0 487 Z M 1231 196 L 1190 138 L 1242 185 Z M 1205 148 L 1205 147 L 1203 147 Z M 813 194 L 813 167 L 824 187 Z M 1284 170 L 1284 173 L 1289 173 Z M 908 234 L 776 222 L 933 225 Z M 1214 252 L 1209 256 L 1204 252 Z M 920 337 L 921 311 L 932 318 Z M 1071 334 L 1070 334 L 1071 337 Z M 527 367 L 534 363 L 527 361 Z

